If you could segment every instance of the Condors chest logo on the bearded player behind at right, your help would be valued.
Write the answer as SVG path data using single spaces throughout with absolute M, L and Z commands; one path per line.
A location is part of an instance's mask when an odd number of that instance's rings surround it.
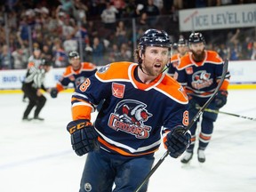
M 197 71 L 192 76 L 192 87 L 195 89 L 203 89 L 204 87 L 209 87 L 213 80 L 210 73 L 207 73 L 205 70 Z

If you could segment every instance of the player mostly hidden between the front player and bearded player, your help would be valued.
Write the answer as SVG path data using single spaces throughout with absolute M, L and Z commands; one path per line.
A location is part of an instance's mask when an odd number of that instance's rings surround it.
M 170 63 L 168 64 L 169 68 L 167 70 L 168 75 L 172 77 L 174 76 L 176 68 L 180 64 L 180 58 L 188 52 L 188 42 L 183 37 L 180 37 L 177 46 L 178 52 L 172 55 Z

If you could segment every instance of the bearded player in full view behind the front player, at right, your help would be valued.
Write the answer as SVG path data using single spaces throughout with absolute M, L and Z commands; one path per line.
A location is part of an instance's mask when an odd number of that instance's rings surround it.
M 190 52 L 180 59 L 180 65 L 174 77 L 185 87 L 189 98 L 189 118 L 196 115 L 198 109 L 204 106 L 214 90 L 216 89 L 223 70 L 223 60 L 217 52 L 205 50 L 204 36 L 201 33 L 191 33 L 188 38 Z M 219 110 L 227 102 L 229 72 L 224 83 L 220 87 L 215 100 L 208 108 Z M 202 117 L 201 131 L 199 133 L 199 144 L 197 149 L 198 161 L 204 163 L 204 150 L 208 146 L 213 131 L 213 123 L 217 114 L 204 112 Z M 191 145 L 181 158 L 181 163 L 187 164 L 192 156 L 196 142 L 196 127 L 190 128 Z

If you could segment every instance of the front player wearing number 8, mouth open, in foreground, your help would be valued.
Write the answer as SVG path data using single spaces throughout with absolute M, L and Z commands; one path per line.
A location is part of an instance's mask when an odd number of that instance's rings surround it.
M 167 33 L 148 29 L 134 52 L 138 64 L 111 63 L 73 93 L 67 130 L 76 155 L 88 155 L 80 192 L 112 191 L 114 183 L 115 191 L 133 192 L 150 172 L 161 133 L 172 157 L 188 148 L 188 96 L 163 73 L 170 54 Z M 103 99 L 92 124 L 91 113 Z M 148 183 L 140 191 L 147 188 Z

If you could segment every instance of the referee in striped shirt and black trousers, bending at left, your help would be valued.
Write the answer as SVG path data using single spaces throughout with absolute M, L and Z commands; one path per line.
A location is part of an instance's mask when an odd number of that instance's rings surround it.
M 22 84 L 22 91 L 28 97 L 28 107 L 26 108 L 23 114 L 24 121 L 30 121 L 33 118 L 29 118 L 31 110 L 36 106 L 34 112 L 34 119 L 44 121 L 44 118 L 39 117 L 39 113 L 44 108 L 44 104 L 46 102 L 46 98 L 44 97 L 41 89 L 44 91 L 46 88 L 44 87 L 44 76 L 51 69 L 51 62 L 47 60 L 42 60 L 41 65 L 38 68 L 28 68 L 27 75 L 24 80 L 24 84 Z

